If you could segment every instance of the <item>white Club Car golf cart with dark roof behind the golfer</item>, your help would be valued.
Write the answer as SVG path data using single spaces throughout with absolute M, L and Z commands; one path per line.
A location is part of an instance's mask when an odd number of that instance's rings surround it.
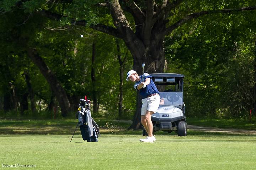
M 176 132 L 178 136 L 187 136 L 187 120 L 183 103 L 184 75 L 175 73 L 151 74 L 156 86 L 160 87 L 160 105 L 151 116 L 153 134 L 156 131 Z M 164 87 L 161 87 L 164 86 Z M 161 89 L 164 89 L 161 91 Z M 167 90 L 166 90 L 167 89 Z M 143 136 L 147 135 L 143 128 Z

